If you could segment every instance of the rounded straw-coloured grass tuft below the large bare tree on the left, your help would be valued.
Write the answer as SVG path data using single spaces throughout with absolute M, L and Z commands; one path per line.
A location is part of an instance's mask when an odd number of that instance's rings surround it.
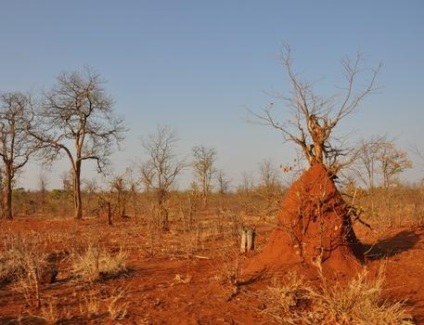
M 91 282 L 114 278 L 128 272 L 127 258 L 128 253 L 122 248 L 111 254 L 101 245 L 89 245 L 82 253 L 72 254 L 73 273 Z

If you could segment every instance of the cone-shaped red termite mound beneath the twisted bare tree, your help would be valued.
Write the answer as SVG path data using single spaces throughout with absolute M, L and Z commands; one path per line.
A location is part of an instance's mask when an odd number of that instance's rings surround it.
M 324 275 L 350 275 L 364 260 L 349 206 L 327 168 L 315 164 L 288 190 L 276 229 L 262 253 L 249 261 L 243 273 L 278 273 L 289 267 L 306 267 Z

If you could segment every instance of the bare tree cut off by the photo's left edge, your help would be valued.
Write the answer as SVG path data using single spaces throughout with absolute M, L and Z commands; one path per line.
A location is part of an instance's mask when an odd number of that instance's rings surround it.
M 33 120 L 31 97 L 20 92 L 0 96 L 0 157 L 3 167 L 2 216 L 12 219 L 12 189 L 17 173 L 38 149 L 28 133 Z

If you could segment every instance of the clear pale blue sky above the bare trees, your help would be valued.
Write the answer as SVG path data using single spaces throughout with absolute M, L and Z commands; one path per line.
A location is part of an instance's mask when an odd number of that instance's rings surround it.
M 194 145 L 214 147 L 217 167 L 237 183 L 264 159 L 293 159 L 276 131 L 246 123 L 246 108 L 259 111 L 275 101 L 269 93 L 288 89 L 282 44 L 324 92 L 338 92 L 340 60 L 360 51 L 368 67 L 383 63 L 382 89 L 339 132 L 353 131 L 352 142 L 386 134 L 424 152 L 423 17 L 422 0 L 2 1 L 0 91 L 38 93 L 59 73 L 90 66 L 108 80 L 130 129 L 113 156 L 117 173 L 145 159 L 140 137 L 168 124 L 181 157 Z M 50 187 L 66 163 L 53 166 Z M 36 188 L 39 174 L 31 164 L 21 184 Z M 423 176 L 418 164 L 406 175 Z

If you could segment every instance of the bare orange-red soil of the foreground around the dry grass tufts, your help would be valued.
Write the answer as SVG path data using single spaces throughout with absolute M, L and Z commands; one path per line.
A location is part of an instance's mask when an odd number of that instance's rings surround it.
M 387 297 L 406 299 L 416 323 L 424 324 L 424 228 L 355 227 L 359 239 L 373 245 L 367 268 L 386 263 Z M 263 312 L 263 292 L 272 279 L 232 284 L 265 246 L 272 227 L 258 226 L 257 252 L 249 254 L 239 253 L 236 235 L 205 229 L 183 234 L 171 225 L 171 232 L 152 235 L 134 219 L 114 226 L 99 219 L 2 221 L 2 249 L 12 233 L 38 238 L 44 252 L 57 257 L 59 273 L 55 283 L 42 284 L 41 309 L 30 306 L 14 282 L 1 283 L 0 324 L 276 324 Z M 73 277 L 70 252 L 92 242 L 128 252 L 128 272 L 95 282 Z M 125 317 L 112 319 L 112 307 Z

